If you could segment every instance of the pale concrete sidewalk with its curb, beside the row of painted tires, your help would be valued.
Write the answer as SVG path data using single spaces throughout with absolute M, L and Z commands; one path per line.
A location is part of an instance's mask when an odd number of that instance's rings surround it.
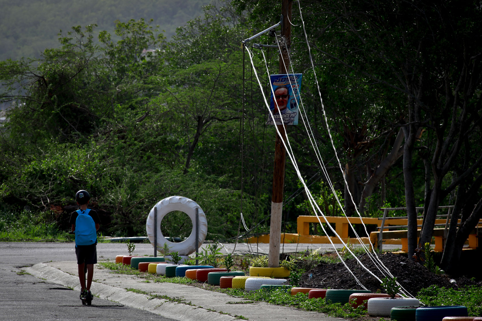
M 232 321 L 241 316 L 253 321 L 343 320 L 328 317 L 323 313 L 276 306 L 265 302 L 232 304 L 232 302 L 243 301 L 240 298 L 193 286 L 168 282 L 145 282 L 144 279 L 136 276 L 115 274 L 106 269 L 99 269 L 99 265 L 94 265 L 94 267 L 94 282 L 91 288 L 94 295 L 175 320 Z M 75 261 L 38 263 L 25 270 L 38 278 L 80 291 Z M 180 299 L 182 303 L 160 298 L 149 300 L 148 295 L 126 291 L 125 289 L 128 288 L 138 289 L 151 295 L 167 295 L 170 298 Z M 92 305 L 95 305 L 95 298 Z

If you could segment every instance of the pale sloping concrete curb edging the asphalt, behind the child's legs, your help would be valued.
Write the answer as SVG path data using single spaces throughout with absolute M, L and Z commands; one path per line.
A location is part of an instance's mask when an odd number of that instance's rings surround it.
M 25 270 L 41 279 L 49 282 L 71 287 L 80 291 L 79 278 L 61 270 L 55 269 L 43 263 L 35 264 Z M 193 307 L 183 303 L 174 303 L 165 299 L 149 300 L 147 295 L 138 294 L 115 286 L 92 282 L 91 290 L 94 294 L 103 299 L 115 301 L 120 304 L 147 310 L 149 312 L 162 315 L 167 318 L 179 321 L 233 321 L 237 320 L 230 315 L 208 311 L 205 308 Z

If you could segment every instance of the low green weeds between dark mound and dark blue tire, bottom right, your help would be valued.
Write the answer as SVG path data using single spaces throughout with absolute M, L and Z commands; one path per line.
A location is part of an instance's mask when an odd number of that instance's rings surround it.
M 480 285 L 446 289 L 437 285 L 418 291 L 417 298 L 428 306 L 464 306 L 470 316 L 482 317 L 482 289 Z

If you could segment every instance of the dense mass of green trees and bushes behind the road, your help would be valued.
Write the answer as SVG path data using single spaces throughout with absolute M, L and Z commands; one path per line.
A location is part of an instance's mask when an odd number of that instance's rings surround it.
M 407 207 L 396 215 L 409 217 L 411 251 L 415 206 L 424 207 L 420 242 L 430 242 L 439 206 L 455 205 L 442 259 L 453 267 L 482 216 L 482 8 L 301 2 L 290 58 L 303 73 L 304 116 L 287 128 L 282 229 L 314 214 L 295 159 L 325 215 Z M 148 20 L 119 21 L 116 37 L 75 27 L 38 61 L 1 62 L 0 97 L 13 108 L 0 131 L 0 224 L 31 213 L 66 230 L 83 188 L 106 234 L 144 235 L 149 209 L 171 195 L 201 205 L 209 238 L 243 233 L 240 212 L 250 232 L 268 231 L 275 131 L 248 55 L 269 92 L 278 54 L 248 46 L 243 61 L 240 43 L 278 22 L 280 6 L 208 6 L 172 39 Z M 189 233 L 183 223 L 168 233 Z

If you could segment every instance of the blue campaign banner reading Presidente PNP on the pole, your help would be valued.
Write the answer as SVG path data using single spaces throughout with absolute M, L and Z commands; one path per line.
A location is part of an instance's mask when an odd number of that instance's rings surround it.
M 298 125 L 299 99 L 302 74 L 270 75 L 273 88 L 270 95 L 268 125 Z

